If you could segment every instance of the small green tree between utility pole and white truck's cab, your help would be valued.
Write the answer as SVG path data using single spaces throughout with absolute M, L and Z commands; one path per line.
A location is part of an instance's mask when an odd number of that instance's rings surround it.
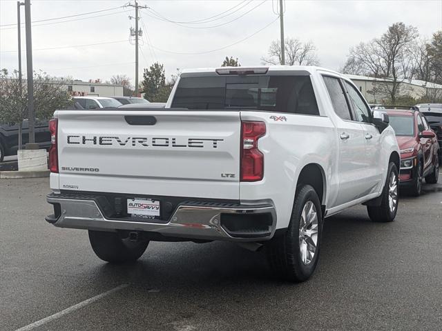
M 171 83 L 166 83 L 164 65 L 153 63 L 149 68 L 144 69 L 142 81 L 142 92 L 144 99 L 151 102 L 166 102 L 172 90 Z

